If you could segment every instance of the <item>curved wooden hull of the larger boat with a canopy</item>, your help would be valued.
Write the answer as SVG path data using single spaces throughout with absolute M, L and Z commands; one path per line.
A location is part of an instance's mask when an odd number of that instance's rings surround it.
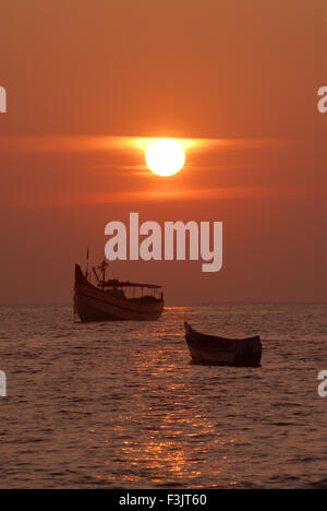
M 128 299 L 93 286 L 75 268 L 74 311 L 82 322 L 153 321 L 160 318 L 164 299 Z

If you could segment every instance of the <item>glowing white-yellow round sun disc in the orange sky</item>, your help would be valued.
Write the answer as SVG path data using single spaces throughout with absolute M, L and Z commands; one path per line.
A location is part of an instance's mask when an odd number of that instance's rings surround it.
M 157 176 L 173 176 L 185 163 L 183 147 L 172 139 L 159 139 L 146 151 L 145 161 L 148 168 Z

